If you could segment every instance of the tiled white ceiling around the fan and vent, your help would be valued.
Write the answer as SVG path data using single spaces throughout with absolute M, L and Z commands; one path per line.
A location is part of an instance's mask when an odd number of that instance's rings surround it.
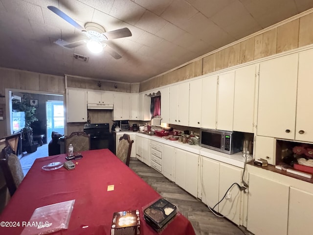
M 107 43 L 123 57 L 56 45 L 86 36 L 48 5 L 83 26 L 128 27 L 133 36 Z M 0 67 L 140 82 L 310 8 L 313 0 L 0 0 Z

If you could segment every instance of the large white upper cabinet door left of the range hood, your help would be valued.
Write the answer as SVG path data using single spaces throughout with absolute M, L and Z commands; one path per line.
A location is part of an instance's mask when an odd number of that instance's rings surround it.
M 87 121 L 87 92 L 67 89 L 67 122 Z

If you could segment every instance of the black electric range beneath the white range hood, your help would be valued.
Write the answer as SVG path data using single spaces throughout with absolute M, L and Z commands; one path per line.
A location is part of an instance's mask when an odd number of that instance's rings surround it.
M 109 123 L 84 124 L 84 132 L 90 135 L 90 149 L 109 148 L 115 151 L 115 141 Z

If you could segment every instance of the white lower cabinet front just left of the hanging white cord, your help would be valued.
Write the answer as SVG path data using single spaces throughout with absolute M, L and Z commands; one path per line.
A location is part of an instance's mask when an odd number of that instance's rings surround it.
M 175 149 L 175 183 L 195 197 L 198 194 L 198 157 L 197 154 Z

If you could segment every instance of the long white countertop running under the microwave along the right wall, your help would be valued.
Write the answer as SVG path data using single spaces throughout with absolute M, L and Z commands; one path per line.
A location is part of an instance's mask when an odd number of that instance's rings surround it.
M 120 133 L 120 134 L 125 133 L 129 135 L 140 136 L 140 137 L 152 140 L 152 141 L 157 141 L 160 143 L 168 144 L 175 148 L 179 148 L 179 149 L 191 152 L 191 153 L 199 154 L 203 157 L 207 157 L 207 158 L 210 158 L 219 162 L 223 162 L 226 164 L 231 164 L 240 168 L 244 168 L 245 162 L 246 162 L 246 157 L 243 156 L 242 152 L 229 155 L 226 153 L 221 153 L 221 152 L 214 151 L 205 147 L 201 147 L 200 145 L 190 145 L 188 143 L 182 143 L 179 141 L 170 141 L 170 140 L 166 140 L 164 138 L 158 137 L 156 135 L 148 135 L 148 134 L 144 134 L 141 132 L 120 131 L 116 133 Z M 252 157 L 248 155 L 247 162 L 250 162 L 250 161 L 252 161 Z

